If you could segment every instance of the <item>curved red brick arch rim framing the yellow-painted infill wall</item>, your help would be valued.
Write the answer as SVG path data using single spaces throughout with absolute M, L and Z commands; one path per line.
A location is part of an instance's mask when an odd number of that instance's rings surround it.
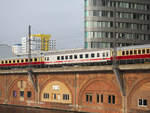
M 66 83 L 65 80 L 62 80 L 62 79 L 56 78 L 56 77 L 50 78 L 50 79 L 46 80 L 44 83 L 41 84 L 41 86 L 40 86 L 40 101 L 41 101 L 41 96 L 42 96 L 42 92 L 43 92 L 44 88 L 45 88 L 49 83 L 54 82 L 54 81 L 58 81 L 58 82 L 64 84 L 65 87 L 67 87 L 67 89 L 69 90 L 69 92 L 70 92 L 70 94 L 71 94 L 71 97 L 72 97 L 72 100 L 71 100 L 71 101 L 72 101 L 72 103 L 73 103 L 73 101 L 74 101 L 74 98 L 73 98 L 73 91 L 71 90 L 71 88 L 69 87 L 69 85 Z

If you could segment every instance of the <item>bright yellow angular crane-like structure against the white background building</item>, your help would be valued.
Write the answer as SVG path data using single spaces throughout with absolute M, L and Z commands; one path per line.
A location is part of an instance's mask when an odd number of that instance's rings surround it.
M 40 37 L 41 38 L 41 50 L 48 51 L 49 50 L 49 42 L 51 35 L 49 34 L 32 34 L 32 37 Z

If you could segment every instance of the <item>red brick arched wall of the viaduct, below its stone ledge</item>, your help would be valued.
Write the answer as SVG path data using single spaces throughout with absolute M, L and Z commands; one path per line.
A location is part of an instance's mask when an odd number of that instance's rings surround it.
M 150 112 L 150 72 L 124 72 L 123 75 L 126 96 L 122 96 L 116 77 L 111 72 L 37 74 L 38 92 L 27 74 L 1 74 L 0 104 L 99 113 Z M 43 89 L 53 81 L 62 83 L 68 89 L 69 96 L 59 94 L 58 90 L 63 88 L 54 84 L 59 102 L 42 101 L 42 98 L 47 98 L 44 97 L 46 92 L 42 95 Z M 55 99 L 53 95 L 48 95 L 48 98 Z

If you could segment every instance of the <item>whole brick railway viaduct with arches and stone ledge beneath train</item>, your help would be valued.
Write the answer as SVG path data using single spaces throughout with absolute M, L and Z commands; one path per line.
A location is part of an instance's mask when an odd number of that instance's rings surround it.
M 92 113 L 150 113 L 150 64 L 0 70 L 0 104 Z M 119 73 L 119 77 L 116 73 Z M 34 87 L 33 87 L 34 86 Z M 37 90 L 36 90 L 36 88 Z

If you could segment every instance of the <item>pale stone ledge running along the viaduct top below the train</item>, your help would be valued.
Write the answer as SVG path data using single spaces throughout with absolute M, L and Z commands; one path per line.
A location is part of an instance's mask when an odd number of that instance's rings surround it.
M 128 64 L 119 65 L 121 71 L 127 70 L 148 70 L 150 64 Z M 59 73 L 59 72 L 92 72 L 101 71 L 108 72 L 112 71 L 112 65 L 105 66 L 63 66 L 58 68 L 33 68 L 35 73 Z M 11 69 L 11 70 L 0 70 L 0 74 L 27 74 L 27 69 Z

